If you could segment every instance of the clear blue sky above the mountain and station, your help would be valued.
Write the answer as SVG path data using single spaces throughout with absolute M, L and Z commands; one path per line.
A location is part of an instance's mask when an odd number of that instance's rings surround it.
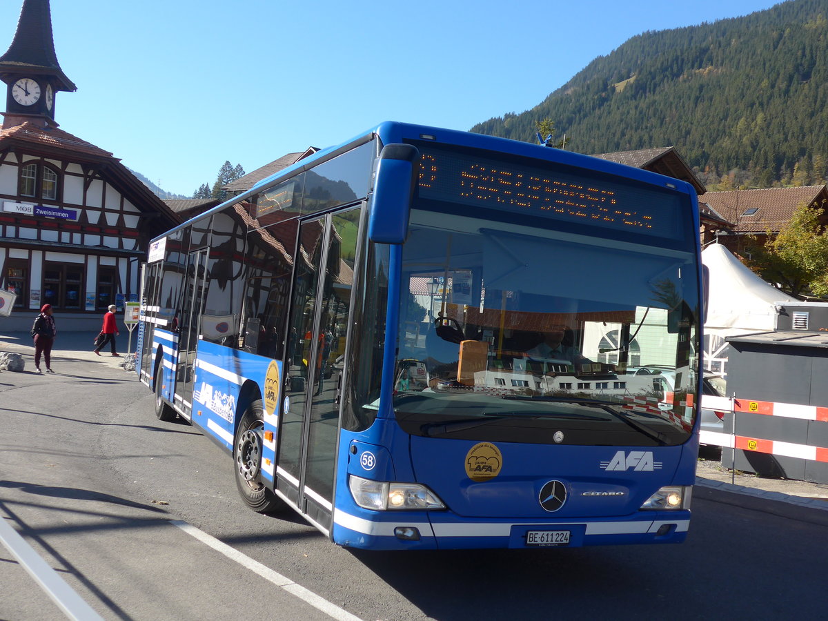
M 190 196 L 385 120 L 467 130 L 599 55 L 772 0 L 51 0 L 60 128 Z M 22 0 L 2 0 L 0 53 Z

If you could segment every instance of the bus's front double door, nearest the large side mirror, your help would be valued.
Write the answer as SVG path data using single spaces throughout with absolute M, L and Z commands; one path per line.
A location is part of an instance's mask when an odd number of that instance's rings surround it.
M 360 209 L 299 229 L 277 489 L 330 532 L 339 403 Z

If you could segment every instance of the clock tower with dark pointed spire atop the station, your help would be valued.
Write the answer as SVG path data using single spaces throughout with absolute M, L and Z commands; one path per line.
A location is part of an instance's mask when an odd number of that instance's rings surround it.
M 7 84 L 3 127 L 21 122 L 57 126 L 55 94 L 77 88 L 55 55 L 49 0 L 23 0 L 12 45 L 0 56 L 0 79 Z

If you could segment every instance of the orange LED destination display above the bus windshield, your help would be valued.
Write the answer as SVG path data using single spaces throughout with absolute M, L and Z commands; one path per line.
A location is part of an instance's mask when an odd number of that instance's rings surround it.
M 546 214 L 658 237 L 680 236 L 677 195 L 458 153 L 424 149 L 421 154 L 419 186 L 424 199 Z

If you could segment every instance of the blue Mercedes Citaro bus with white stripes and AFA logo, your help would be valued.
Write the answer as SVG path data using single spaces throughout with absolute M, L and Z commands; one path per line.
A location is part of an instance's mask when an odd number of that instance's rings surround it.
M 382 123 L 154 239 L 136 367 L 340 546 L 681 542 L 701 282 L 683 181 Z

